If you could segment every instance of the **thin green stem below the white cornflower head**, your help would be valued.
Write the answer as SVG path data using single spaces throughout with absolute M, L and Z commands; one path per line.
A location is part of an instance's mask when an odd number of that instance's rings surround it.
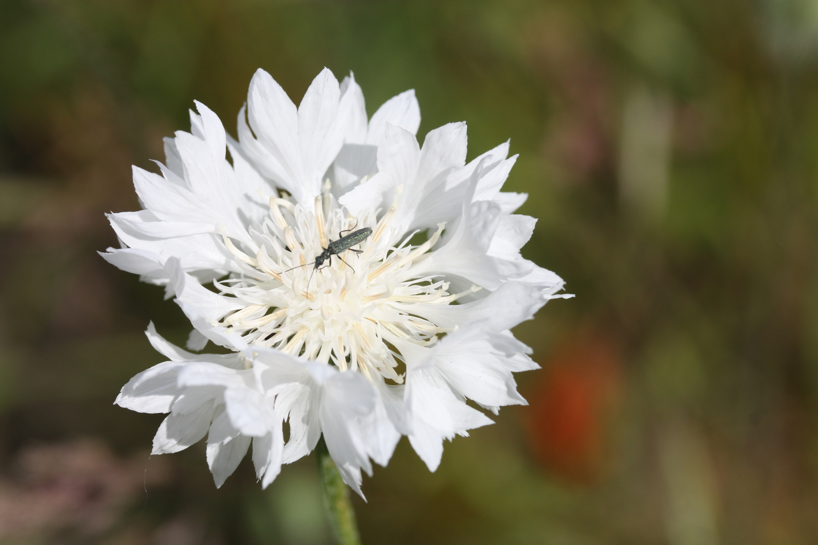
M 335 541 L 339 545 L 361 545 L 361 536 L 357 533 L 355 510 L 349 501 L 349 487 L 341 479 L 341 474 L 335 462 L 326 449 L 324 437 L 318 441 L 316 448 L 318 455 L 318 473 L 321 475 L 321 492 L 324 497 L 324 507 L 330 516 L 330 525 L 335 534 Z

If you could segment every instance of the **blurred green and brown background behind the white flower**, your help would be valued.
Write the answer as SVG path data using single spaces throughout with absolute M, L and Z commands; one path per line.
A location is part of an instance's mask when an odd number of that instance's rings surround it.
M 516 330 L 530 406 L 365 479 L 364 543 L 818 543 L 816 0 L 0 0 L 0 543 L 329 543 L 312 457 L 149 458 L 111 403 L 189 325 L 96 253 L 194 99 L 235 134 L 325 65 L 510 138 L 577 294 Z

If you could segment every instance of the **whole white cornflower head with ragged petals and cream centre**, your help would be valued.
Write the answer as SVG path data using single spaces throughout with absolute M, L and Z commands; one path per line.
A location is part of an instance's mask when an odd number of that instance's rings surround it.
M 209 430 L 221 485 L 252 440 L 266 486 L 323 434 L 360 494 L 361 470 L 401 435 L 434 471 L 444 438 L 491 422 L 466 399 L 525 403 L 511 373 L 537 364 L 509 329 L 564 296 L 519 254 L 535 220 L 512 213 L 524 194 L 500 192 L 507 143 L 466 164 L 465 123 L 450 123 L 421 148 L 414 92 L 367 122 L 360 87 L 328 69 L 298 108 L 258 70 L 239 141 L 196 106 L 191 133 L 165 140 L 162 175 L 134 168 L 145 209 L 110 215 L 123 248 L 102 254 L 166 286 L 195 327 L 189 348 L 236 351 L 192 354 L 149 328 L 171 361 L 117 403 L 170 413 L 156 453 Z

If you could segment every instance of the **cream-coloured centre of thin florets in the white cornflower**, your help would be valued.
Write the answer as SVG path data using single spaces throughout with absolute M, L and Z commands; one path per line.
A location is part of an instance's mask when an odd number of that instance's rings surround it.
M 326 221 L 325 202 L 330 204 Z M 447 330 L 425 319 L 424 307 L 448 305 L 479 288 L 450 294 L 448 282 L 417 271 L 443 224 L 424 243 L 411 245 L 407 237 L 393 246 L 394 205 L 376 221 L 374 213 L 344 217 L 331 204 L 329 195 L 318 196 L 314 211 L 306 212 L 272 197 L 269 217 L 251 231 L 255 257 L 224 237 L 245 272 L 215 284 L 246 306 L 214 325 L 237 331 L 250 344 L 400 383 L 402 357 L 393 342 L 433 344 Z M 363 231 L 366 236 L 338 243 L 366 227 L 371 235 Z M 330 233 L 339 235 L 334 244 Z

